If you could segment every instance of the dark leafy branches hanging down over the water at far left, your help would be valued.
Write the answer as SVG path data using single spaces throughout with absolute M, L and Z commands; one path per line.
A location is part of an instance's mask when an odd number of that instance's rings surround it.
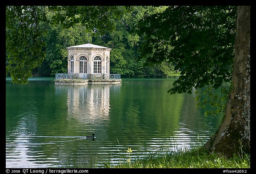
M 26 84 L 32 70 L 45 58 L 44 7 L 6 7 L 6 75 L 13 83 Z

